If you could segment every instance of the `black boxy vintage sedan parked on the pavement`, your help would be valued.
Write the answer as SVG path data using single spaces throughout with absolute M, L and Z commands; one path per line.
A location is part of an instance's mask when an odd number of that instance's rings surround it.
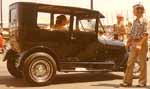
M 11 4 L 8 71 L 33 85 L 52 83 L 57 71 L 124 71 L 125 45 L 102 36 L 101 18 L 98 11 L 77 7 Z

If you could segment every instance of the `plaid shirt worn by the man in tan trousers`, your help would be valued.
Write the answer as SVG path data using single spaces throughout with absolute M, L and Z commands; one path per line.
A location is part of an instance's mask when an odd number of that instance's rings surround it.
M 134 40 L 139 40 L 143 38 L 144 33 L 147 33 L 147 23 L 144 21 L 140 22 L 138 20 L 134 20 L 130 33 L 131 37 Z

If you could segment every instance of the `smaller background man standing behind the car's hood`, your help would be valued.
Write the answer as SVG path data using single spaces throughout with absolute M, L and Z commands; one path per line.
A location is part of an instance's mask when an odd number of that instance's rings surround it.
M 122 15 L 117 15 L 117 24 L 114 24 L 114 39 L 115 40 L 124 40 L 125 35 L 125 26 L 123 23 L 124 17 Z

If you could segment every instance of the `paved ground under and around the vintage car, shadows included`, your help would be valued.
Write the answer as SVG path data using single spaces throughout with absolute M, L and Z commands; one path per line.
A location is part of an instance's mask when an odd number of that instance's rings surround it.
M 2 55 L 0 55 L 2 59 Z M 148 86 L 127 89 L 150 89 L 150 61 L 148 62 Z M 0 89 L 125 89 L 119 86 L 123 73 L 59 73 L 53 84 L 43 87 L 31 87 L 22 79 L 13 78 L 6 69 L 6 62 L 0 60 Z

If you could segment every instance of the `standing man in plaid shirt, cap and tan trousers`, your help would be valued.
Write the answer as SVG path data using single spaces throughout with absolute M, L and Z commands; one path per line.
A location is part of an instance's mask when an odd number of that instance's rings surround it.
M 143 5 L 136 4 L 133 6 L 133 14 L 136 16 L 136 19 L 133 21 L 133 27 L 128 38 L 128 45 L 130 46 L 131 52 L 129 54 L 123 83 L 120 84 L 123 87 L 132 86 L 133 67 L 137 58 L 139 59 L 140 63 L 140 76 L 137 87 L 145 87 L 147 83 L 146 57 L 148 50 L 148 33 L 146 27 L 147 24 L 143 19 L 144 12 L 145 9 Z

